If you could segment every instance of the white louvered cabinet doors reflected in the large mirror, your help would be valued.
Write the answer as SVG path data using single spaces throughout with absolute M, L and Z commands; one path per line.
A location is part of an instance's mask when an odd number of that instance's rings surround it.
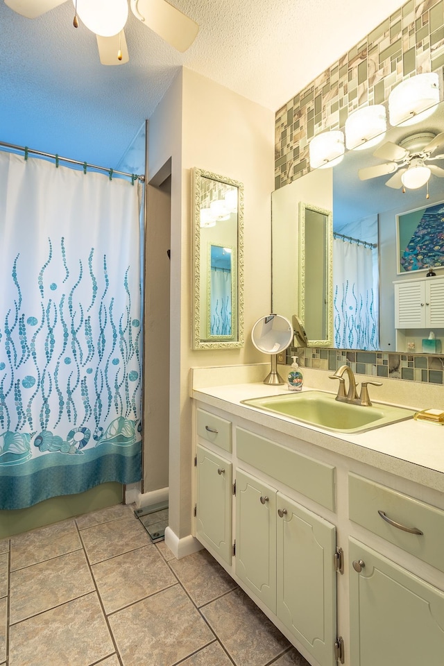
M 444 327 L 444 276 L 395 282 L 395 328 Z

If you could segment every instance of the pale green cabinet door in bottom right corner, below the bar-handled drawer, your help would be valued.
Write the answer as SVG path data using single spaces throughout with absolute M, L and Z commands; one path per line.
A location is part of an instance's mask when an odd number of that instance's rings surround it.
M 443 666 L 444 592 L 351 538 L 349 553 L 350 664 Z

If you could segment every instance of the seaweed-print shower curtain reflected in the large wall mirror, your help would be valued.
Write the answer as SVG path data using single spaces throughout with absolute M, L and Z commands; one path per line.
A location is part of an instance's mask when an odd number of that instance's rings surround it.
M 336 348 L 379 349 L 371 248 L 334 239 L 333 304 Z

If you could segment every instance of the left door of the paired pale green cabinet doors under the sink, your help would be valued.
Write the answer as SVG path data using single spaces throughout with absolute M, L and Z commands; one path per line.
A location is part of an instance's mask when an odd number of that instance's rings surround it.
M 276 490 L 236 473 L 236 573 L 276 612 Z

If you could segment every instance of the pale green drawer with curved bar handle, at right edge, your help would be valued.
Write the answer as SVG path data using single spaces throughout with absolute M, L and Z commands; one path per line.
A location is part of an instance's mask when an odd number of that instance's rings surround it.
M 348 504 L 350 520 L 444 571 L 444 511 L 352 472 L 348 475 Z M 422 534 L 390 524 L 378 511 L 399 526 Z

